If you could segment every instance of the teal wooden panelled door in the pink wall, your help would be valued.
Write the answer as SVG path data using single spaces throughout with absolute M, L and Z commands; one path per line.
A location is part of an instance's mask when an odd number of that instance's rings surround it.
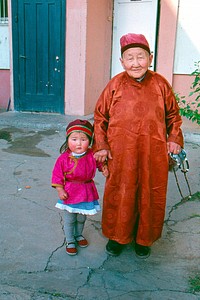
M 11 2 L 17 111 L 64 113 L 65 2 Z

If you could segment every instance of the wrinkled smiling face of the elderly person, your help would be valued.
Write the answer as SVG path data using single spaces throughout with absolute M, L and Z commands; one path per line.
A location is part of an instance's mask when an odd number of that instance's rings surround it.
M 120 59 L 124 70 L 134 79 L 141 78 L 151 65 L 153 56 L 139 47 L 129 48 Z

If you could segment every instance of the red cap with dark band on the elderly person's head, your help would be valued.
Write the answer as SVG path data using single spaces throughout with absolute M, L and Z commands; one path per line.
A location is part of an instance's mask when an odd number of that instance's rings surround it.
M 151 54 L 149 43 L 147 42 L 143 34 L 128 33 L 121 37 L 121 55 L 129 48 L 140 47 L 145 49 L 149 54 Z

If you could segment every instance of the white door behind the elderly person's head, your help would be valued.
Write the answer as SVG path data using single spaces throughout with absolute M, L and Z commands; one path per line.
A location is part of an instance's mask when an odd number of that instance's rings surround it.
M 127 33 L 141 33 L 156 55 L 158 0 L 114 0 L 111 77 L 123 71 L 120 63 L 120 38 Z M 152 70 L 155 69 L 155 57 Z

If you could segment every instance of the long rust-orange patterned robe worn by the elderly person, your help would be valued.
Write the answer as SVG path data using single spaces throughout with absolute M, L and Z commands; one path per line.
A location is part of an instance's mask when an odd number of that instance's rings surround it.
M 126 72 L 106 86 L 94 113 L 94 151 L 111 150 L 102 231 L 121 244 L 150 246 L 162 233 L 168 179 L 167 141 L 183 146 L 179 107 L 168 82 Z

